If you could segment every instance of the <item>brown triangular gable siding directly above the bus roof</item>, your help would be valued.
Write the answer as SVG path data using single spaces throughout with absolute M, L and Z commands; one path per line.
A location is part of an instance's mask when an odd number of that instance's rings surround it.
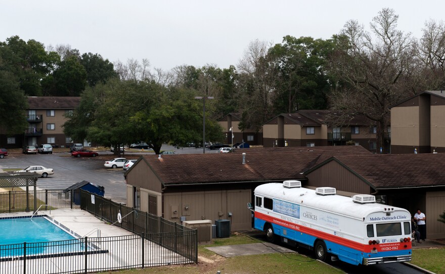
M 317 168 L 306 174 L 306 177 L 309 187 L 331 187 L 351 193 L 371 193 L 371 187 L 368 184 L 336 161 L 331 161 Z

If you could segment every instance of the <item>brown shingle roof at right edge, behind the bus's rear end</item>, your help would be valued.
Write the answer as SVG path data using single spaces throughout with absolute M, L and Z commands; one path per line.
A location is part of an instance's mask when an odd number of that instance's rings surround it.
M 335 156 L 377 189 L 445 186 L 445 154 Z

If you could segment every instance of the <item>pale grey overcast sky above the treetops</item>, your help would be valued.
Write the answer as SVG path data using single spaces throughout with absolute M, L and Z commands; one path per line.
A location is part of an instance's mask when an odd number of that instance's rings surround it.
M 367 29 L 382 8 L 419 38 L 425 21 L 442 20 L 445 1 L 114 1 L 0 0 L 0 41 L 13 35 L 45 46 L 70 44 L 111 62 L 150 60 L 151 67 L 236 65 L 250 41 L 283 36 L 330 38 L 346 21 Z

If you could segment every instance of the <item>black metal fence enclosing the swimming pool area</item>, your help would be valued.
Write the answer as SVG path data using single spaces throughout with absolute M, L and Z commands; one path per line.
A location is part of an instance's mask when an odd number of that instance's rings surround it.
M 42 192 L 37 195 L 39 200 L 46 199 L 42 205 L 81 208 L 134 234 L 0 245 L 0 274 L 86 273 L 198 262 L 196 230 L 83 190 Z M 20 196 L 13 192 L 8 195 L 9 201 Z M 0 206 L 3 211 L 3 199 Z M 11 210 L 7 212 L 15 209 L 6 208 Z

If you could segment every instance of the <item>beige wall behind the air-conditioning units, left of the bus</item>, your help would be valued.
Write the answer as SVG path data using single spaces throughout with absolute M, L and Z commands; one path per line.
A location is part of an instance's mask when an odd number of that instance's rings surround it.
M 252 227 L 251 212 L 247 203 L 251 202 L 249 190 L 218 190 L 164 194 L 164 218 L 180 220 L 231 220 L 231 230 L 249 230 Z M 188 207 L 188 209 L 186 209 Z M 174 213 L 177 210 L 177 214 Z M 229 216 L 228 212 L 232 212 Z

